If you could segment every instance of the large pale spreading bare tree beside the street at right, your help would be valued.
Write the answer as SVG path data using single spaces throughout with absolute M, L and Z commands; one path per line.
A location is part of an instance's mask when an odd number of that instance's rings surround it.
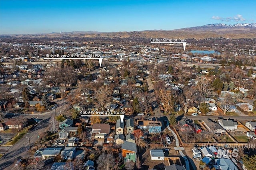
M 226 93 L 223 96 L 223 100 L 219 101 L 217 103 L 217 105 L 220 107 L 220 109 L 222 109 L 222 111 L 224 112 L 224 114 L 227 113 L 228 109 L 234 105 L 237 101 L 237 97 L 236 95 L 231 95 L 230 93 Z

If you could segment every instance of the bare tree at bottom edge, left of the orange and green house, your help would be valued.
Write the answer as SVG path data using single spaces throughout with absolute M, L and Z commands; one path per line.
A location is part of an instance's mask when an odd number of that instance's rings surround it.
M 97 159 L 99 170 L 112 170 L 114 167 L 115 158 L 112 154 L 102 153 Z

